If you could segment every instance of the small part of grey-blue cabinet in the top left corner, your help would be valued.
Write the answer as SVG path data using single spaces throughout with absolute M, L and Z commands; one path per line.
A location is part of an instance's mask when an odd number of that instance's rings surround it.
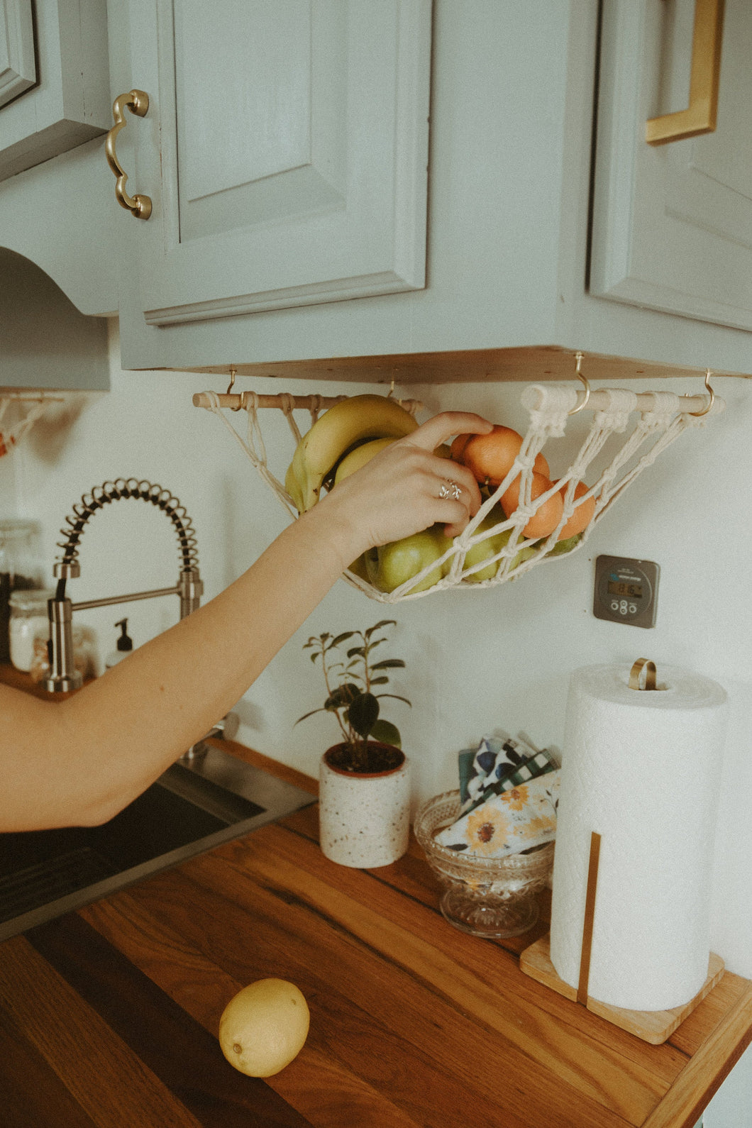
M 106 0 L 0 0 L 0 179 L 109 127 Z

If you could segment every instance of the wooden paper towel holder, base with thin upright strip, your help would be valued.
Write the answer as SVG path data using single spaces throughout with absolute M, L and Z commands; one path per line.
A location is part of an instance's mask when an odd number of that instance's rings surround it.
M 590 862 L 587 866 L 587 891 L 585 895 L 585 918 L 583 923 L 582 952 L 580 957 L 580 981 L 577 987 L 570 986 L 561 979 L 551 963 L 550 937 L 547 934 L 527 948 L 520 957 L 520 970 L 524 975 L 536 979 L 545 987 L 564 995 L 572 1002 L 580 1003 L 593 1014 L 600 1015 L 614 1026 L 642 1038 L 653 1046 L 661 1046 L 674 1032 L 674 1030 L 692 1013 L 695 1007 L 702 1002 L 706 995 L 719 982 L 725 967 L 719 955 L 710 952 L 708 961 L 708 977 L 697 995 L 683 1006 L 676 1006 L 670 1011 L 629 1011 L 626 1007 L 609 1006 L 587 994 L 587 982 L 590 977 L 590 954 L 593 942 L 593 918 L 595 915 L 595 887 L 598 884 L 598 864 L 601 849 L 601 836 L 591 835 Z

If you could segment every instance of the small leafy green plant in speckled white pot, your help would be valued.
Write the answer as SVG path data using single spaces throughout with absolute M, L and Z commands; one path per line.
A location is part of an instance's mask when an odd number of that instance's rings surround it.
M 384 697 L 410 704 L 383 688 L 388 671 L 405 662 L 378 655 L 374 661 L 373 655 L 387 642 L 383 632 L 390 626 L 393 619 L 381 619 L 368 631 L 312 636 L 303 646 L 313 663 L 320 661 L 327 696 L 295 723 L 330 713 L 343 738 L 327 749 L 319 767 L 321 851 L 333 862 L 360 869 L 397 861 L 409 837 L 409 763 L 399 730 L 380 715 L 379 704 Z

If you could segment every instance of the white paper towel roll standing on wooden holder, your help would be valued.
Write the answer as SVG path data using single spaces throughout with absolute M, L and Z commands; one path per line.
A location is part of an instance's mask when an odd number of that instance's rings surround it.
M 708 973 L 709 901 L 726 693 L 658 668 L 590 666 L 569 684 L 551 901 L 551 961 L 580 978 L 591 831 L 602 836 L 589 995 L 610 1006 L 683 1006 Z

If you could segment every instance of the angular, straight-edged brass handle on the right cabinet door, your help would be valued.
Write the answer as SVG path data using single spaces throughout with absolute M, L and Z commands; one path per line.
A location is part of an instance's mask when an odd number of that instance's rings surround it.
M 718 109 L 723 28 L 724 0 L 696 0 L 689 106 L 675 114 L 648 118 L 645 126 L 645 140 L 648 144 L 667 144 L 681 138 L 714 132 Z

